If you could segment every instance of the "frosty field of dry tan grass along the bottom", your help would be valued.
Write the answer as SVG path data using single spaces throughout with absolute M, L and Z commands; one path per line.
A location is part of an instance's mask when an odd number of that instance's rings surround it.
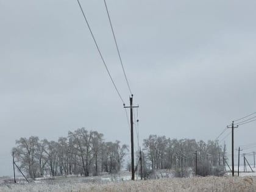
M 129 174 L 54 177 L 16 184 L 11 183 L 12 180 L 2 179 L 0 191 L 256 191 L 256 176 L 246 176 L 246 173 L 244 177 L 172 177 L 137 181 L 127 180 L 130 179 Z

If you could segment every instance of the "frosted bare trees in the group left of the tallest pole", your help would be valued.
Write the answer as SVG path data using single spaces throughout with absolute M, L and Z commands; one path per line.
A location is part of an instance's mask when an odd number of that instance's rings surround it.
M 48 174 L 96 176 L 102 171 L 119 171 L 128 146 L 119 141 L 105 142 L 103 137 L 102 133 L 85 128 L 68 132 L 68 137 L 58 141 L 22 137 L 13 148 L 15 162 L 30 178 Z

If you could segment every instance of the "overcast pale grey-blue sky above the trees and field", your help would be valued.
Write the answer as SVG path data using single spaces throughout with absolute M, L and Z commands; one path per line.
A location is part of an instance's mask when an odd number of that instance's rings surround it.
M 80 1 L 128 105 L 104 1 Z M 141 141 L 149 134 L 215 140 L 233 119 L 256 112 L 256 1 L 107 4 L 140 105 Z M 0 0 L 0 26 L 1 175 L 12 175 L 20 137 L 57 140 L 86 127 L 129 144 L 123 103 L 77 1 Z M 235 130 L 235 148 L 255 142 L 255 126 Z M 230 137 L 226 143 L 231 151 Z

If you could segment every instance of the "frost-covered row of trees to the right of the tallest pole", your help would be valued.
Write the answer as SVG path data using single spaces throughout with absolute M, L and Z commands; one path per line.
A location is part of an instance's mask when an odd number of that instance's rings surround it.
M 198 162 L 210 162 L 212 166 L 225 165 L 226 146 L 218 141 L 196 142 L 194 139 L 170 139 L 149 135 L 143 140 L 146 163 L 149 169 L 194 167 L 195 152 Z

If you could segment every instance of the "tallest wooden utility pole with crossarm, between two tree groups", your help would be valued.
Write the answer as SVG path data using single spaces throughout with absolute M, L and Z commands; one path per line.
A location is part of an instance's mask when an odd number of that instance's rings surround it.
M 132 106 L 132 98 L 133 94 L 130 97 L 130 107 L 126 107 L 124 104 L 124 108 L 130 108 L 130 148 L 131 148 L 131 156 L 132 156 L 132 180 L 135 179 L 135 171 L 134 171 L 134 152 L 133 152 L 133 108 L 138 106 Z

